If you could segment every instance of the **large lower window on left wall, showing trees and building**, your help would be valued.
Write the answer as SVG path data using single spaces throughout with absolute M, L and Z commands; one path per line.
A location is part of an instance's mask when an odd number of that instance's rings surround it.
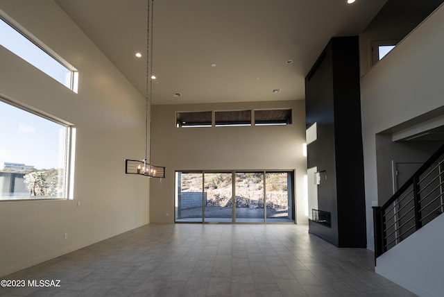
M 0 200 L 67 198 L 71 128 L 0 101 Z

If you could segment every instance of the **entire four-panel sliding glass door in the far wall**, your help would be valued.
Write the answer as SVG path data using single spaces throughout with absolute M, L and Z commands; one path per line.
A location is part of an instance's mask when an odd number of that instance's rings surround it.
M 177 171 L 176 222 L 295 221 L 293 171 Z

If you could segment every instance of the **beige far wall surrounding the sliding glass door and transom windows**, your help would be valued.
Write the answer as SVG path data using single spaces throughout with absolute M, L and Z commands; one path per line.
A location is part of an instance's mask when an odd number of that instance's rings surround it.
M 293 124 L 287 126 L 242 126 L 176 128 L 176 112 L 292 108 Z M 176 170 L 296 170 L 298 223 L 307 223 L 302 197 L 307 159 L 305 101 L 246 102 L 153 106 L 153 151 L 151 161 L 167 167 L 167 176 L 151 179 L 151 223 L 174 221 L 174 172 Z M 168 216 L 166 214 L 169 214 Z

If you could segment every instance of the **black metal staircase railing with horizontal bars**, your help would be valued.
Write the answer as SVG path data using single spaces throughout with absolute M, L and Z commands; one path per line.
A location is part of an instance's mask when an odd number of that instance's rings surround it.
M 373 207 L 375 257 L 444 212 L 444 144 L 382 207 Z

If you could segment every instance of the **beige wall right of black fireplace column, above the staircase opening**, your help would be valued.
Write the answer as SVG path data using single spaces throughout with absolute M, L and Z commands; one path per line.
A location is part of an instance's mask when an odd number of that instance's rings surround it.
M 443 114 L 444 6 L 361 78 L 362 137 L 368 248 L 373 249 L 371 201 L 377 201 L 375 135 L 397 132 Z

